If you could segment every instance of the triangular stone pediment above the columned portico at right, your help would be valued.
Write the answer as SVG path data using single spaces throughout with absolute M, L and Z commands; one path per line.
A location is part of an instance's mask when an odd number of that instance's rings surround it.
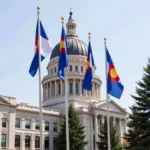
M 107 101 L 103 101 L 103 102 L 100 102 L 99 104 L 96 104 L 96 108 L 106 111 L 107 110 Z M 110 112 L 116 112 L 116 113 L 127 113 L 124 108 L 119 106 L 113 100 L 109 101 L 109 111 Z

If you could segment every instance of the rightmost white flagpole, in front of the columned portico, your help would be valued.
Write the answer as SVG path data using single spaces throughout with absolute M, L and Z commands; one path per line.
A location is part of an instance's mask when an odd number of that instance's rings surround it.
M 104 50 L 105 50 L 105 73 L 106 73 L 106 100 L 107 100 L 107 138 L 108 138 L 108 150 L 111 150 L 110 146 L 110 123 L 109 123 L 109 98 L 108 98 L 108 85 L 107 85 L 107 58 L 106 58 L 106 38 L 104 38 Z

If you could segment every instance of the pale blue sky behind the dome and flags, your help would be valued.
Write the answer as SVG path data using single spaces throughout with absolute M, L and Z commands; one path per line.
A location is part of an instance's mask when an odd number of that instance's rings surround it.
M 0 94 L 38 106 L 38 76 L 32 78 L 28 73 L 34 55 L 37 6 L 41 7 L 41 20 L 54 46 L 60 40 L 60 17 L 67 21 L 70 7 L 79 38 L 88 43 L 87 34 L 92 33 L 97 75 L 103 82 L 102 99 L 106 85 L 103 38 L 107 38 L 107 47 L 125 86 L 121 100 L 112 99 L 128 109 L 133 104 L 130 94 L 135 93 L 136 82 L 141 79 L 150 55 L 150 1 L 1 0 Z M 48 62 L 49 57 L 42 63 L 42 77 L 47 74 Z

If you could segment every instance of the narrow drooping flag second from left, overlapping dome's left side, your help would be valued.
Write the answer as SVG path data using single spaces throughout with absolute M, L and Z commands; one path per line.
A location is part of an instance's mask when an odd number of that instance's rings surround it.
M 60 41 L 60 51 L 59 51 L 59 62 L 58 62 L 58 76 L 61 80 L 64 80 L 65 73 L 64 68 L 68 66 L 68 58 L 67 58 L 67 49 L 69 48 L 66 35 L 65 35 L 65 29 L 62 26 L 62 32 L 61 32 L 61 41 Z

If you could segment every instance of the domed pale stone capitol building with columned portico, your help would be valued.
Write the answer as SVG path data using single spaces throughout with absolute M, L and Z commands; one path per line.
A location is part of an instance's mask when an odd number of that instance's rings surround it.
M 99 140 L 100 128 L 107 116 L 107 101 L 101 99 L 102 81 L 96 75 L 96 67 L 91 96 L 88 91 L 82 89 L 88 47 L 78 38 L 72 12 L 66 23 L 66 36 L 69 43 L 68 101 L 78 112 L 81 124 L 85 126 L 85 140 L 88 141 L 85 150 L 97 150 L 96 141 Z M 56 137 L 65 114 L 65 83 L 57 76 L 59 50 L 58 43 L 51 53 L 47 75 L 42 79 L 44 150 L 55 150 Z M 92 111 L 89 109 L 90 105 Z M 109 100 L 109 115 L 122 144 L 123 134 L 126 132 L 127 112 L 116 102 Z M 39 150 L 39 129 L 39 107 L 25 102 L 17 103 L 14 97 L 0 95 L 0 149 Z

